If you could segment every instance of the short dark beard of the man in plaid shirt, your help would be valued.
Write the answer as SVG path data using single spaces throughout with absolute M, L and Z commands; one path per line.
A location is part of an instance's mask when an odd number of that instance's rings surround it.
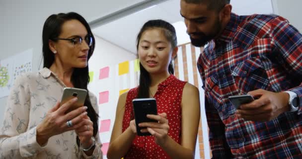
M 196 46 L 196 47 L 203 47 L 205 46 L 208 42 L 210 42 L 211 40 L 213 40 L 220 32 L 222 28 L 222 24 L 219 21 L 219 19 L 217 18 L 215 20 L 214 23 L 214 28 L 213 28 L 213 32 L 210 34 L 205 34 L 204 32 L 194 32 L 194 33 L 188 33 L 191 39 L 191 43 L 192 45 Z M 197 35 L 200 38 L 192 38 L 191 35 Z

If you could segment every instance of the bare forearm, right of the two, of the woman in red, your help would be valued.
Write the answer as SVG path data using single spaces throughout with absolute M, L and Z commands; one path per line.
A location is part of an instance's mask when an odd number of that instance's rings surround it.
M 194 150 L 182 147 L 168 136 L 166 143 L 161 147 L 172 159 L 194 159 Z

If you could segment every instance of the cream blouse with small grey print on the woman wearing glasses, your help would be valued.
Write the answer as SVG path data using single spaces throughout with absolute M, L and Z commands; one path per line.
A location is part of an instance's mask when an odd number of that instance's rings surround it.
M 93 155 L 87 157 L 76 144 L 75 131 L 51 137 L 41 147 L 36 127 L 46 113 L 61 100 L 65 84 L 49 69 L 25 73 L 15 79 L 7 98 L 3 127 L 0 131 L 0 159 L 102 159 L 99 134 Z M 97 99 L 88 93 L 98 113 Z

